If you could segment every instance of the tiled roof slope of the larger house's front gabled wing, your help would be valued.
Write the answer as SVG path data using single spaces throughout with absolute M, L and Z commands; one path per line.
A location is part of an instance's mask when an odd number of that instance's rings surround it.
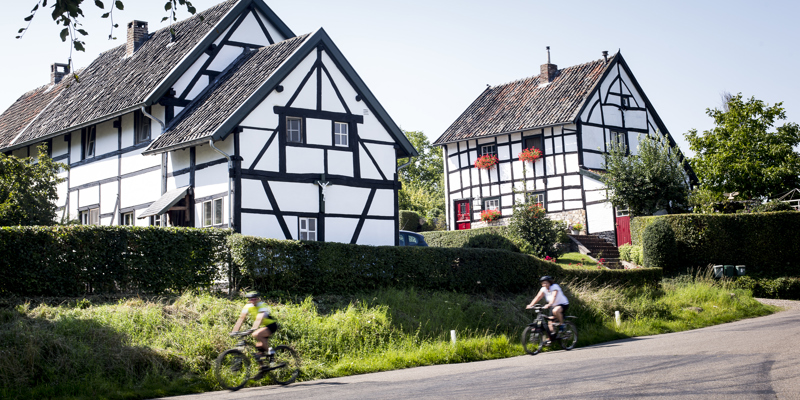
M 175 116 L 166 132 L 153 141 L 146 152 L 181 147 L 182 144 L 210 138 L 308 36 L 293 37 L 239 56 L 213 84 Z

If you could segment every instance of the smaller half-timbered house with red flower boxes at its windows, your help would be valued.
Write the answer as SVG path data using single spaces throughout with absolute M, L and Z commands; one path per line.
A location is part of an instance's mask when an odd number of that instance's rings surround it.
M 615 210 L 598 173 L 609 143 L 636 154 L 640 137 L 666 135 L 675 145 L 620 53 L 487 87 L 434 142 L 443 147 L 449 229 L 485 226 L 481 211 L 508 222 L 515 201 L 535 197 L 550 218 L 580 223 L 590 234 L 630 241 L 626 210 Z M 523 149 L 541 157 L 521 161 Z M 482 155 L 497 164 L 479 169 Z

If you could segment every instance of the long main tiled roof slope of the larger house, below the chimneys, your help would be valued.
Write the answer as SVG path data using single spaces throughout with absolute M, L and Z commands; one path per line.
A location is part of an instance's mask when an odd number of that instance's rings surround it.
M 125 56 L 125 44 L 100 54 L 79 75 L 79 82 L 69 76 L 64 78 L 68 85 L 61 85 L 58 98 L 41 111 L 13 144 L 43 139 L 143 103 L 238 1 L 227 0 L 174 24 L 176 40 L 173 43 L 169 28 L 162 28 L 152 32 L 132 57 Z M 8 123 L 0 120 L 0 126 L 5 124 Z M 2 142 L 0 148 L 8 144 Z

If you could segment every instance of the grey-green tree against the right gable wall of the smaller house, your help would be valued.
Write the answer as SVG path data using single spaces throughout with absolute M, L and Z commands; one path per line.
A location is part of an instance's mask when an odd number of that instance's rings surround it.
M 624 145 L 611 144 L 603 157 L 606 173 L 602 180 L 615 207 L 627 207 L 636 216 L 662 209 L 672 213 L 687 205 L 689 185 L 684 162 L 665 136 L 640 135 L 637 155 L 627 155 Z

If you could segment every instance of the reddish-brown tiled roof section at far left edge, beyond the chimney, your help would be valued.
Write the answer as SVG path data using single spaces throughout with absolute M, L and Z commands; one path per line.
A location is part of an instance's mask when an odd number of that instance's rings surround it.
M 0 148 L 11 144 L 17 135 L 39 115 L 66 86 L 65 81 L 44 85 L 20 96 L 3 114 L 0 114 Z

